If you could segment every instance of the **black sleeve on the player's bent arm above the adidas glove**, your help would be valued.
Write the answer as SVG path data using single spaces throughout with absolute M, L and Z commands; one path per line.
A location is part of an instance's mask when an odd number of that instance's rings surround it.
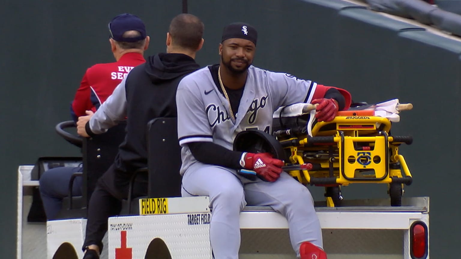
M 242 152 L 229 150 L 213 142 L 191 142 L 187 145 L 199 162 L 233 169 L 242 168 L 240 166 Z

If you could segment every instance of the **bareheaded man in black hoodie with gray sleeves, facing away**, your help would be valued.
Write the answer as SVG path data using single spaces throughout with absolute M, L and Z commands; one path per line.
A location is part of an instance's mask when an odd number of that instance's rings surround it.
M 104 133 L 128 118 L 125 140 L 89 201 L 83 259 L 99 258 L 107 218 L 120 213 L 132 172 L 147 167 L 147 123 L 158 117 L 177 117 L 177 85 L 200 68 L 195 54 L 203 45 L 203 27 L 201 20 L 191 14 L 173 18 L 166 34 L 166 53 L 150 56 L 146 63 L 136 66 L 97 112 L 78 118 L 77 133 L 84 137 Z M 136 196 L 145 195 L 147 183 L 136 192 Z

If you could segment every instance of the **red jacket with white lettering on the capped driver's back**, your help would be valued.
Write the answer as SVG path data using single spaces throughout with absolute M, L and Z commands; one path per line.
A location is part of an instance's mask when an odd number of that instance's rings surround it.
M 146 62 L 140 53 L 126 53 L 117 62 L 96 64 L 87 69 L 80 87 L 71 103 L 71 116 L 74 121 L 93 111 L 109 97 L 115 87 L 137 65 Z

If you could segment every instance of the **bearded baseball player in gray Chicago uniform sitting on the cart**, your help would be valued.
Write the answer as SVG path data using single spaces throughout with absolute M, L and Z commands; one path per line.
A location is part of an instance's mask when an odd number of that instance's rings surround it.
M 210 239 L 215 259 L 237 259 L 239 213 L 243 207 L 271 206 L 284 215 L 297 257 L 326 259 L 322 232 L 309 190 L 282 170 L 270 153 L 232 151 L 237 133 L 272 132 L 280 106 L 318 104 L 318 121 L 331 121 L 350 105 L 350 94 L 285 73 L 252 66 L 257 31 L 249 24 L 224 28 L 220 63 L 181 80 L 177 89 L 178 137 L 182 147 L 183 196 L 210 197 Z M 255 171 L 252 178 L 238 169 Z M 245 171 L 242 171 L 245 172 Z

